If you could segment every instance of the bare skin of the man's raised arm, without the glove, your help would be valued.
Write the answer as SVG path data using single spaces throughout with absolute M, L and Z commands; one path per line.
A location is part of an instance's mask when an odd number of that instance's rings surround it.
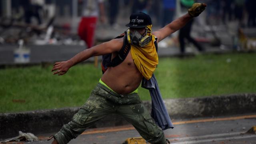
M 184 16 L 181 16 L 180 18 L 172 21 L 170 24 L 167 24 L 163 28 L 153 32 L 153 34 L 158 38 L 157 42 L 160 42 L 170 34 L 176 32 L 180 28 L 186 25 L 186 23 L 191 20 L 193 17 L 190 16 L 190 14 L 185 14 Z

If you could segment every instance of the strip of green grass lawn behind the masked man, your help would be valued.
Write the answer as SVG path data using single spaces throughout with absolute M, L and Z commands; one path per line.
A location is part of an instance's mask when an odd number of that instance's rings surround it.
M 81 106 L 101 77 L 93 64 L 78 64 L 64 76 L 51 66 L 0 70 L 0 113 Z M 155 76 L 163 98 L 256 93 L 256 53 L 160 58 Z M 139 88 L 142 100 L 148 90 Z

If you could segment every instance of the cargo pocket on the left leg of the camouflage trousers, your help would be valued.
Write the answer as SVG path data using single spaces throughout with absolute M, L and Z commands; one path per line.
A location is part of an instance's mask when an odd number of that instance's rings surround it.
M 86 122 L 86 119 L 92 111 L 94 110 L 94 106 L 91 106 L 89 104 L 84 104 L 82 108 L 73 116 L 72 120 L 74 122 L 77 122 L 78 124 L 84 125 Z

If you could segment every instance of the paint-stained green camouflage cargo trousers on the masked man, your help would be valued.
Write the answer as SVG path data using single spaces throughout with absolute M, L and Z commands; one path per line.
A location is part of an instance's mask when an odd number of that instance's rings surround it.
M 59 144 L 67 144 L 88 126 L 109 114 L 120 114 L 151 144 L 166 144 L 163 131 L 152 120 L 137 93 L 117 94 L 98 84 L 68 124 L 54 135 Z

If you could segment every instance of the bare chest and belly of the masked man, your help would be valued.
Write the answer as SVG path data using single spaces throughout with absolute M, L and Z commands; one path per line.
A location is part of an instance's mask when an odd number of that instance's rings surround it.
M 122 47 L 123 39 L 120 42 L 119 45 Z M 113 53 L 112 58 L 116 55 L 117 53 Z M 142 78 L 143 76 L 134 64 L 131 52 L 129 52 L 121 64 L 115 67 L 109 67 L 103 74 L 101 80 L 116 93 L 129 94 L 140 86 Z

